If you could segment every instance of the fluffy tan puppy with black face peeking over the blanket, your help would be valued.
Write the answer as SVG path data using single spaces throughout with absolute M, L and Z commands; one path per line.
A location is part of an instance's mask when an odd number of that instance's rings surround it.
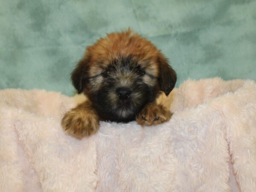
M 171 118 L 155 100 L 160 92 L 169 95 L 176 73 L 159 49 L 130 29 L 87 47 L 71 79 L 77 92 L 88 98 L 61 121 L 75 137 L 95 133 L 99 120 L 157 125 Z

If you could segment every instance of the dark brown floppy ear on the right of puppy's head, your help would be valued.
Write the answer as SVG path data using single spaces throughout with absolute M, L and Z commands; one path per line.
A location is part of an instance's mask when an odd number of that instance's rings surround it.
M 168 64 L 167 58 L 160 53 L 158 57 L 159 63 L 159 84 L 160 90 L 163 91 L 166 96 L 172 91 L 177 81 L 177 75 L 175 70 Z

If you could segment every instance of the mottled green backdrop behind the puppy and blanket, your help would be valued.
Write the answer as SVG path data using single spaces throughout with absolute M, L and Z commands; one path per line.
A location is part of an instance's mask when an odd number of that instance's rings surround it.
M 0 0 L 0 89 L 74 94 L 87 45 L 130 26 L 184 80 L 256 79 L 256 0 Z

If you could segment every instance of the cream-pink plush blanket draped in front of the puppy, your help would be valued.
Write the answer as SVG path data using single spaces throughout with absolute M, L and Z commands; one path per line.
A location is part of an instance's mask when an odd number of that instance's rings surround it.
M 100 122 L 78 140 L 60 121 L 83 96 L 1 90 L 0 191 L 255 192 L 256 83 L 188 80 L 163 97 L 169 122 Z

